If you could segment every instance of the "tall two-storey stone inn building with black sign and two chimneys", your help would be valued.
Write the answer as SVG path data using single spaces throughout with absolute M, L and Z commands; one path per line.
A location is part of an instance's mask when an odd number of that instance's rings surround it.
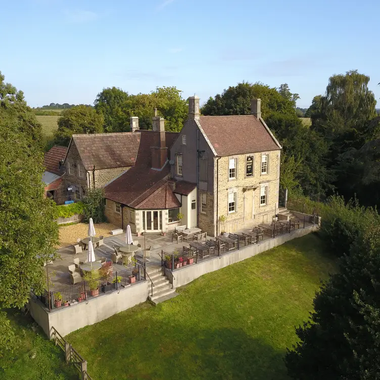
M 278 211 L 281 146 L 261 118 L 261 100 L 241 116 L 201 116 L 196 96 L 188 104 L 170 149 L 171 176 L 198 189 L 196 225 L 214 236 L 270 222 Z

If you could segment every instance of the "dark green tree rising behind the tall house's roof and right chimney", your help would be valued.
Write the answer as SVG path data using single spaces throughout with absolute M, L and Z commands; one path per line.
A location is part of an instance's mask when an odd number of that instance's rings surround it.
M 282 86 L 282 87 L 281 87 Z M 289 87 L 281 85 L 283 90 Z M 286 86 L 288 86 L 286 84 Z M 298 94 L 292 94 L 290 91 L 286 96 L 282 96 L 276 88 L 269 87 L 262 83 L 242 82 L 236 86 L 228 87 L 223 93 L 217 94 L 215 98 L 210 98 L 202 107 L 202 114 L 206 116 L 215 115 L 249 115 L 251 113 L 251 100 L 254 98 L 261 99 L 262 117 L 266 119 L 271 112 L 294 115 L 296 105 L 294 99 Z M 283 92 L 284 94 L 284 92 Z M 294 95 L 294 98 L 293 98 Z M 298 99 L 298 98 L 297 98 Z

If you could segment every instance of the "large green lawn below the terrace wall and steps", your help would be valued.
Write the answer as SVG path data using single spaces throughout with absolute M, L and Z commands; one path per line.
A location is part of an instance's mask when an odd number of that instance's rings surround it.
M 283 356 L 294 326 L 334 262 L 310 234 L 138 305 L 67 340 L 97 380 L 287 379 Z

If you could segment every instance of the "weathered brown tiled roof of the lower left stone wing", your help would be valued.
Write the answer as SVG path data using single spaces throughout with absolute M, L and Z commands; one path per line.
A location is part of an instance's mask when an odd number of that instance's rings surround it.
M 133 166 L 140 132 L 73 134 L 86 170 Z

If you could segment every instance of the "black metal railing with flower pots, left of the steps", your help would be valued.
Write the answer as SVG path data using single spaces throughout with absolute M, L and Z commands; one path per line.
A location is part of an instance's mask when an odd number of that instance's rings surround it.
M 116 271 L 108 276 L 89 281 L 84 280 L 76 285 L 49 293 L 45 290 L 39 296 L 34 294 L 34 292 L 33 294 L 51 311 L 80 302 L 87 302 L 89 298 L 97 297 L 99 294 L 125 288 L 131 283 L 145 280 L 146 275 L 145 263 L 138 261 L 133 267 L 119 272 Z

